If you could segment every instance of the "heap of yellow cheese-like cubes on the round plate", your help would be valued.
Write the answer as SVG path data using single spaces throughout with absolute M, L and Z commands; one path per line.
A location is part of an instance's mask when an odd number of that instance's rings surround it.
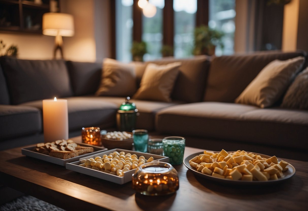
M 190 159 L 189 165 L 198 172 L 213 177 L 246 181 L 277 180 L 284 177 L 282 172 L 288 170 L 288 163 L 283 160 L 278 162 L 276 156 L 264 158 L 244 150 L 234 153 L 228 153 L 224 149 L 220 153 L 204 151 Z

